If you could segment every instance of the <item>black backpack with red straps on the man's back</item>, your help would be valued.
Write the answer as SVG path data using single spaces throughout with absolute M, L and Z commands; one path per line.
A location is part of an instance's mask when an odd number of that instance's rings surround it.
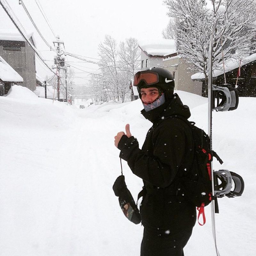
M 194 140 L 194 158 L 191 168 L 188 172 L 181 172 L 178 179 L 178 193 L 184 194 L 186 200 L 197 207 L 198 222 L 202 214 L 205 223 L 204 206 L 212 202 L 212 168 L 211 162 L 216 157 L 220 164 L 223 161 L 214 152 L 211 151 L 211 142 L 209 136 L 204 130 L 195 126 L 195 122 L 188 121 L 183 116 L 178 117 L 183 120 L 191 129 Z M 204 225 L 199 222 L 200 225 Z

